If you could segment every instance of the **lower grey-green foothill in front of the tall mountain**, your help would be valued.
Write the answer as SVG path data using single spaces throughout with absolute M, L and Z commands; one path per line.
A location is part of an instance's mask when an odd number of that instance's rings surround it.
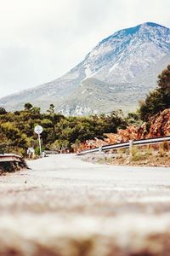
M 147 92 L 147 87 L 137 87 L 136 84 L 109 84 L 89 78 L 83 80 L 71 96 L 59 105 L 59 111 L 67 115 L 110 113 L 117 108 L 124 112 L 133 111 L 136 108 L 136 97 L 144 97 Z

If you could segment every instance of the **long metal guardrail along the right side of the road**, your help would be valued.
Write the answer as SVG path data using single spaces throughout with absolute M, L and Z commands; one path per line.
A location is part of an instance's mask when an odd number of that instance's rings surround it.
M 157 144 L 157 143 L 163 143 L 163 142 L 170 142 L 170 136 L 154 137 L 154 138 L 149 138 L 149 139 L 129 141 L 127 143 L 116 143 L 116 144 L 105 145 L 105 146 L 98 147 L 98 148 L 83 150 L 80 153 L 78 153 L 77 155 L 101 152 L 101 151 L 110 150 L 110 149 L 129 148 L 130 145 L 132 145 L 132 144 L 142 146 L 142 145 L 151 145 L 151 144 Z

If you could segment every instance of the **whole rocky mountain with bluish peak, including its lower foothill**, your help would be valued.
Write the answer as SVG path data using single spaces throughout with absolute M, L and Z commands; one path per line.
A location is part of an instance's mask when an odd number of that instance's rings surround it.
M 0 99 L 7 109 L 26 102 L 67 114 L 125 112 L 156 87 L 157 75 L 170 63 L 170 29 L 147 22 L 115 32 L 59 79 Z

